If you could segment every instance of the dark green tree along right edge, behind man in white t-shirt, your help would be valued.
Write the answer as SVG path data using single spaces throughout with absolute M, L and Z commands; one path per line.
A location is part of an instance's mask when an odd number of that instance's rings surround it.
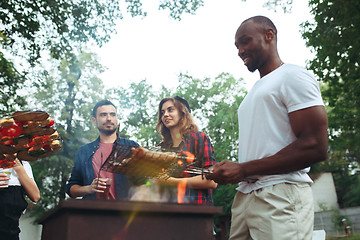
M 340 206 L 357 206 L 359 185 L 352 168 L 360 163 L 360 2 L 309 1 L 315 22 L 303 24 L 303 37 L 316 56 L 309 68 L 325 83 L 322 95 L 329 118 L 330 163 L 346 162 L 334 171 Z M 340 161 L 342 162 L 342 161 Z M 346 181 L 341 179 L 346 178 Z M 345 194 L 346 191 L 346 194 Z M 351 199 L 351 200 L 350 200 Z

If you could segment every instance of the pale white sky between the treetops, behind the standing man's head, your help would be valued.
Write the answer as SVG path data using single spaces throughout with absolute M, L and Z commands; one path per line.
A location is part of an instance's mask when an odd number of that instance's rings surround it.
M 132 18 L 124 14 L 116 26 L 117 34 L 95 50 L 107 68 L 100 75 L 106 88 L 126 87 L 143 79 L 155 89 L 161 85 L 174 88 L 180 73 L 201 79 L 227 72 L 243 78 L 250 89 L 259 74 L 250 73 L 237 56 L 234 36 L 241 22 L 255 15 L 274 22 L 280 58 L 285 63 L 305 67 L 313 56 L 299 26 L 312 19 L 307 0 L 294 0 L 291 14 L 263 7 L 265 0 L 205 0 L 195 15 L 183 14 L 181 21 L 158 10 L 158 0 L 142 2 L 148 15 Z

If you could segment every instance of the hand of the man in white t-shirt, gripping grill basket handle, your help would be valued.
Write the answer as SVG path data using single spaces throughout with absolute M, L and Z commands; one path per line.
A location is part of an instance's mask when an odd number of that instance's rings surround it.
M 212 173 L 206 174 L 206 178 L 214 180 L 220 185 L 236 184 L 245 178 L 240 163 L 224 160 L 215 164 L 210 169 L 212 170 Z

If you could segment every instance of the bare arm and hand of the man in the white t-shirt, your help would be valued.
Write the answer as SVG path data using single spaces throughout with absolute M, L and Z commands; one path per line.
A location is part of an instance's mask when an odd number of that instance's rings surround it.
M 223 161 L 207 174 L 219 184 L 235 184 L 252 175 L 283 174 L 325 161 L 328 121 L 324 106 L 314 106 L 289 113 L 297 139 L 276 154 L 245 163 Z

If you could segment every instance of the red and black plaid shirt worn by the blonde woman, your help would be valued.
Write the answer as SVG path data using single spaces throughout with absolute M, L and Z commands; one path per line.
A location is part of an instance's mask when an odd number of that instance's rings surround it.
M 171 149 L 171 143 L 162 142 L 159 144 L 162 148 Z M 202 132 L 191 132 L 185 134 L 181 140 L 178 150 L 182 152 L 190 152 L 198 159 L 203 159 L 202 165 L 204 168 L 209 168 L 216 163 L 214 158 L 214 149 L 211 145 L 210 139 Z M 181 177 L 192 177 L 195 174 L 183 173 Z M 195 204 L 213 204 L 213 190 L 212 189 L 193 189 L 186 188 L 184 201 L 186 203 Z

